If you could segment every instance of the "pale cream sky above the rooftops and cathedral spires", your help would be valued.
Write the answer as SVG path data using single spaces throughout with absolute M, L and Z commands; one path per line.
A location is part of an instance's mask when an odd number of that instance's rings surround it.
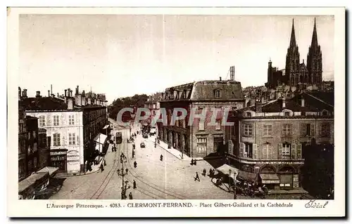
M 301 62 L 317 23 L 322 76 L 334 79 L 329 15 L 20 15 L 21 88 L 47 95 L 80 86 L 108 103 L 200 80 L 262 86 L 268 61 L 285 67 L 292 19 Z

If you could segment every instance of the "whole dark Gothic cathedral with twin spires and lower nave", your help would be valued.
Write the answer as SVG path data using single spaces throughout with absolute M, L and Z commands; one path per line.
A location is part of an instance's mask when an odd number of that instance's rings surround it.
M 278 70 L 272 67 L 271 60 L 268 65 L 267 88 L 277 88 L 277 86 L 289 86 L 291 90 L 307 89 L 308 86 L 320 88 L 322 85 L 322 51 L 318 45 L 317 26 L 314 19 L 313 37 L 310 44 L 307 65 L 299 58 L 296 36 L 294 33 L 294 20 L 292 20 L 291 39 L 287 48 L 286 67 Z

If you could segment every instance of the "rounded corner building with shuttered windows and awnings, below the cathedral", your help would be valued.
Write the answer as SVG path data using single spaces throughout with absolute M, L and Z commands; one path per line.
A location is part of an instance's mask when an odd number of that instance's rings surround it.
M 307 145 L 334 143 L 334 93 L 301 93 L 237 110 L 227 126 L 227 161 L 239 178 L 298 188 Z

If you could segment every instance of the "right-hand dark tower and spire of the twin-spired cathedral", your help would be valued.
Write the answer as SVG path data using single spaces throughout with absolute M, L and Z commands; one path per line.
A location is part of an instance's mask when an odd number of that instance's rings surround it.
M 307 55 L 308 79 L 310 84 L 322 84 L 322 51 L 318 44 L 317 25 L 314 18 L 312 42 Z

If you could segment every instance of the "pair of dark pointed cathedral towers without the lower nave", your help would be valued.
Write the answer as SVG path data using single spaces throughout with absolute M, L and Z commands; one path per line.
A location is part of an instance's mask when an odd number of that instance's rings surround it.
M 294 20 L 292 20 L 291 39 L 287 49 L 286 84 L 297 86 L 298 84 L 317 85 L 322 84 L 322 51 L 318 44 L 317 25 L 314 19 L 312 42 L 307 55 L 307 65 L 300 63 L 296 35 L 294 32 Z

